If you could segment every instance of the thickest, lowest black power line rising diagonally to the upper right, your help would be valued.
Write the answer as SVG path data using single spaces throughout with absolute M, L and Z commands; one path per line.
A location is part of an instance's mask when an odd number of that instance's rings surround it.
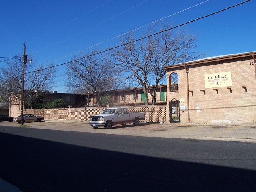
M 102 53 L 104 53 L 104 52 L 108 52 L 108 51 L 110 51 L 110 50 L 119 48 L 119 47 L 121 47 L 121 46 L 130 44 L 130 43 L 133 43 L 133 42 L 137 42 L 137 41 L 140 41 L 140 40 L 142 40 L 142 39 L 146 39 L 146 38 L 151 37 L 151 36 L 154 36 L 154 35 L 158 35 L 158 34 L 163 33 L 163 32 L 165 32 L 165 31 L 169 31 L 169 30 L 172 30 L 172 29 L 174 29 L 174 28 L 178 28 L 178 27 L 180 27 L 180 26 L 189 24 L 189 23 L 191 23 L 191 22 L 195 22 L 195 21 L 200 20 L 200 19 L 202 19 L 202 18 L 206 18 L 206 17 L 209 17 L 209 16 L 211 16 L 211 15 L 215 15 L 215 14 L 217 14 L 217 13 L 220 13 L 220 12 L 222 12 L 222 11 L 226 11 L 226 10 L 228 10 L 228 9 L 231 9 L 231 8 L 233 8 L 233 7 L 236 7 L 236 6 L 239 6 L 239 5 L 244 4 L 244 3 L 246 3 L 246 2 L 249 2 L 249 1 L 251 1 L 251 0 L 246 0 L 246 1 L 241 2 L 241 3 L 239 3 L 239 4 L 235 4 L 235 5 L 233 5 L 233 6 L 230 6 L 230 7 L 225 8 L 225 9 L 221 9 L 221 10 L 219 10 L 219 11 L 210 13 L 210 14 L 208 14 L 208 15 L 205 15 L 205 16 L 202 16 L 202 17 L 199 17 L 199 18 L 190 20 L 190 21 L 188 21 L 188 22 L 184 22 L 183 24 L 179 24 L 179 25 L 176 25 L 176 26 L 174 26 L 174 27 L 171 27 L 171 28 L 168 28 L 168 29 L 165 29 L 165 30 L 158 31 L 158 32 L 153 33 L 153 34 L 151 34 L 151 35 L 147 35 L 147 36 L 145 36 L 145 37 L 141 37 L 141 38 L 139 38 L 139 39 L 135 39 L 134 41 L 126 42 L 126 43 L 124 43 L 124 44 L 121 44 L 121 45 L 118 45 L 118 46 L 115 46 L 115 47 L 112 47 L 112 48 L 109 48 L 109 49 L 106 49 L 106 50 L 97 52 L 97 53 L 95 53 L 95 54 L 87 55 L 87 56 L 81 57 L 81 58 L 79 58 L 79 59 L 74 59 L 74 60 L 72 60 L 72 61 L 68 61 L 68 62 L 65 62 L 65 63 L 58 64 L 58 65 L 50 66 L 50 67 L 46 67 L 46 68 L 43 68 L 43 69 L 39 69 L 39 70 L 31 71 L 31 72 L 26 72 L 26 73 L 24 73 L 24 74 L 29 74 L 29 73 L 38 72 L 38 71 L 41 71 L 41 70 L 46 70 L 46 69 L 49 69 L 49 68 L 54 68 L 54 67 L 61 66 L 61 65 L 65 65 L 65 64 L 68 64 L 68 63 L 71 63 L 71 62 L 74 62 L 74 61 L 79 61 L 79 60 L 81 60 L 81 59 L 85 59 L 85 58 L 91 57 L 91 56 L 93 56 L 93 55 L 102 54 Z M 20 74 L 19 76 L 21 76 L 21 74 Z M 17 76 L 17 77 L 19 77 L 19 76 Z M 17 78 L 17 77 L 15 77 L 15 78 Z M 15 79 L 15 78 L 13 78 L 13 79 Z M 11 80 L 13 80 L 13 79 L 11 79 Z M 0 86 L 6 84 L 6 83 L 8 83 L 8 82 L 10 82 L 11 80 L 6 81 L 5 83 L 2 83 Z

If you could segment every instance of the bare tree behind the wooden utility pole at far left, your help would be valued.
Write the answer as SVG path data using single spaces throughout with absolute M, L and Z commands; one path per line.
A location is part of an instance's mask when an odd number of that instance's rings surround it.
M 42 66 L 34 67 L 35 63 L 25 64 L 24 76 L 24 106 L 33 108 L 35 101 L 40 99 L 45 90 L 52 89 L 55 72 L 54 68 L 43 70 Z M 5 67 L 1 67 L 0 89 L 2 97 L 9 96 L 13 100 L 20 99 L 22 89 L 22 61 L 18 57 L 8 61 Z

